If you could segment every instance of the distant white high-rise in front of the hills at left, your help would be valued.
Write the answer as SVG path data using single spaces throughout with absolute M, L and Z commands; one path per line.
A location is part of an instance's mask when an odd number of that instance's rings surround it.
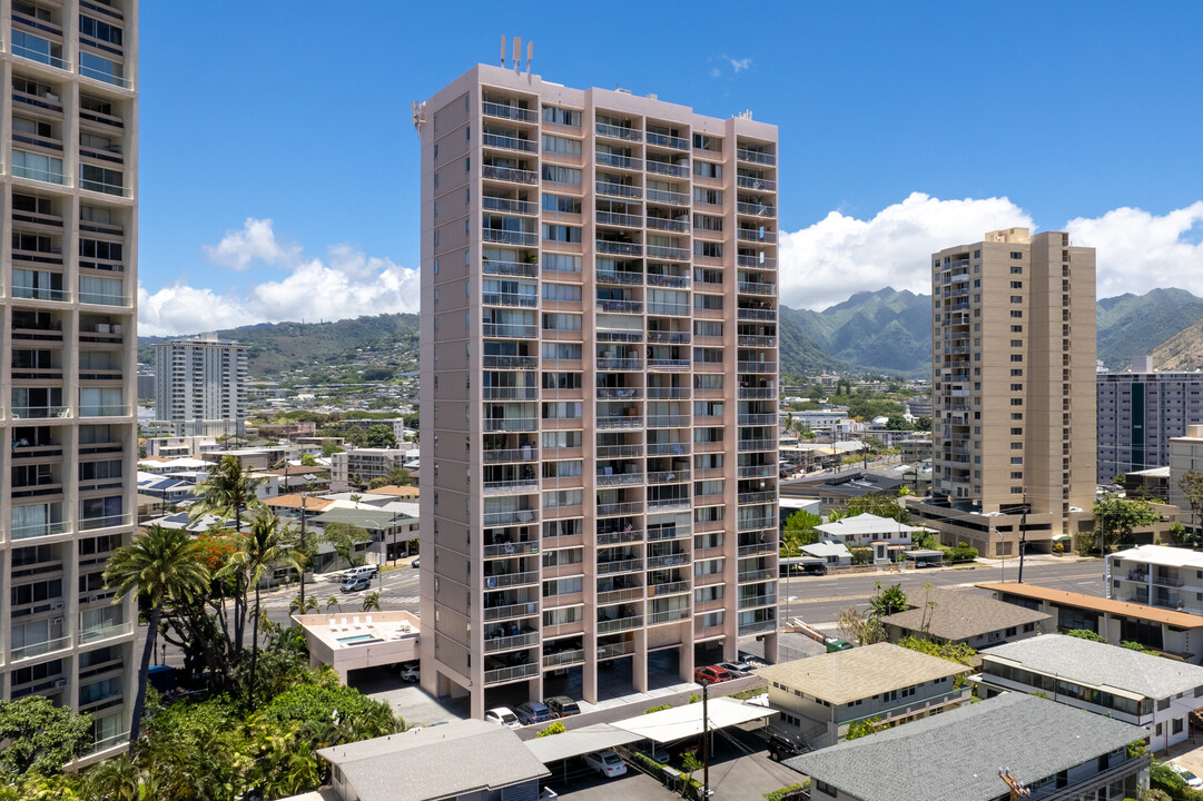
M 243 434 L 248 345 L 215 336 L 155 345 L 155 417 L 176 437 Z

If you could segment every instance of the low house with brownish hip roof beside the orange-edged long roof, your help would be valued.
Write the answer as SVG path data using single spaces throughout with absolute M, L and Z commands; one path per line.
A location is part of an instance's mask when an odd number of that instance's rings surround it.
M 980 651 L 1035 637 L 1042 627 L 1049 630 L 1053 619 L 1045 612 L 956 589 L 915 589 L 907 593 L 907 605 L 911 609 L 881 618 L 890 642 L 917 636 Z

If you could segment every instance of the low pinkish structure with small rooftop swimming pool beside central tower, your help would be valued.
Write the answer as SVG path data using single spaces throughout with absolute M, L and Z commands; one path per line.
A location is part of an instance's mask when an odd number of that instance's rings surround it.
M 309 646 L 309 664 L 346 672 L 417 659 L 417 617 L 404 611 L 371 615 L 294 615 Z

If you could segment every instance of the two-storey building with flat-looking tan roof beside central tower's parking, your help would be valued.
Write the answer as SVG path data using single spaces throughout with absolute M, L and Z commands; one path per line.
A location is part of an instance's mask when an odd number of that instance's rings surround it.
M 965 665 L 889 642 L 760 668 L 769 706 L 812 748 L 843 741 L 848 726 L 878 718 L 899 724 L 967 704 Z M 959 686 L 960 684 L 960 686 Z

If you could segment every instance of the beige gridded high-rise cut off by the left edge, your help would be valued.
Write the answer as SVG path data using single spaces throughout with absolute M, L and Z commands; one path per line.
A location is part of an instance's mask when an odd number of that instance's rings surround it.
M 136 511 L 137 2 L 0 4 L 0 698 L 125 742 L 132 603 L 101 572 Z

